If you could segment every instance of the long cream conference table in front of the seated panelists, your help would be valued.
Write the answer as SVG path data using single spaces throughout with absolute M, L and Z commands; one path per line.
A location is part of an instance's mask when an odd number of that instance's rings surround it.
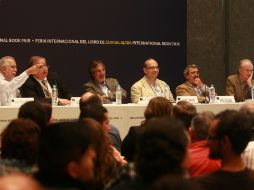
M 225 109 L 238 110 L 242 103 L 230 104 L 194 104 L 197 112 L 212 111 L 218 113 Z M 140 125 L 144 120 L 144 110 L 146 105 L 142 104 L 104 104 L 108 109 L 110 123 L 116 126 L 121 138 L 123 139 L 131 126 Z M 2 106 L 0 107 L 0 132 L 8 125 L 8 123 L 17 118 L 19 106 Z M 74 106 L 53 106 L 52 117 L 57 121 L 67 121 L 77 119 L 79 117 L 79 107 Z

